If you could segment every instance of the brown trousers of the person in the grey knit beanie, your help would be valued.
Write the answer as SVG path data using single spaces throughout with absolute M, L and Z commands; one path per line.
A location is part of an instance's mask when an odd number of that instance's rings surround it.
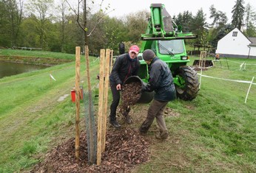
M 160 131 L 164 132 L 167 130 L 163 116 L 163 111 L 167 103 L 168 102 L 160 102 L 153 99 L 152 104 L 149 106 L 149 110 L 147 110 L 146 120 L 141 124 L 142 133 L 146 133 L 147 130 L 149 130 L 154 119 L 156 119 Z

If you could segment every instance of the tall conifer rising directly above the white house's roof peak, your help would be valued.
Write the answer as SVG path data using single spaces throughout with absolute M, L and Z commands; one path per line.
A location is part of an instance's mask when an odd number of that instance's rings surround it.
M 238 29 L 241 29 L 243 25 L 243 15 L 245 12 L 243 4 L 243 0 L 237 0 L 235 6 L 232 9 L 232 27 L 237 27 Z

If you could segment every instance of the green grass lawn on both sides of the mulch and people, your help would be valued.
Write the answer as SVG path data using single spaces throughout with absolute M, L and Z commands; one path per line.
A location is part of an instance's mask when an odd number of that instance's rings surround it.
M 195 59 L 198 57 L 191 57 L 190 65 Z M 99 62 L 93 57 L 90 62 L 94 86 Z M 222 62 L 203 75 L 251 81 L 256 74 L 256 60 Z M 248 65 L 240 69 L 243 62 Z M 81 85 L 86 88 L 84 66 L 82 60 Z M 50 80 L 50 72 L 56 81 Z M 0 172 L 26 172 L 53 146 L 75 136 L 75 104 L 70 95 L 57 101 L 74 86 L 75 63 L 0 80 Z M 169 102 L 168 108 L 177 115 L 166 116 L 170 138 L 154 140 L 149 162 L 136 166 L 133 172 L 256 172 L 256 85 L 252 85 L 245 104 L 248 88 L 248 83 L 202 77 L 196 99 Z M 134 126 L 140 124 L 135 122 Z

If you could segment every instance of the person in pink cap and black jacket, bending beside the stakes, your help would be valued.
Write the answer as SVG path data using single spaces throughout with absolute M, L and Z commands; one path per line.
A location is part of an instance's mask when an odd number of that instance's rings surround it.
M 116 128 L 121 127 L 121 125 L 118 124 L 118 121 L 116 121 L 116 109 L 120 101 L 121 86 L 128 77 L 138 75 L 138 70 L 141 66 L 141 63 L 137 58 L 139 50 L 138 46 L 133 45 L 129 48 L 127 54 L 121 54 L 117 57 L 110 74 L 110 88 L 113 99 L 112 104 L 110 105 L 110 124 Z M 127 123 L 131 123 L 132 121 L 128 116 L 128 113 L 129 107 L 127 107 L 127 110 L 123 115 L 125 116 Z

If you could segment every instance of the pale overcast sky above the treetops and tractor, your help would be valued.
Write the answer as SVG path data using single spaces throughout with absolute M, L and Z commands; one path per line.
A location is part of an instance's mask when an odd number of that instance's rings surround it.
M 101 0 L 96 0 L 101 1 Z M 244 0 L 246 4 L 250 3 L 255 10 L 256 1 L 255 0 Z M 138 10 L 150 10 L 150 4 L 161 3 L 165 4 L 166 10 L 170 15 L 178 15 L 178 13 L 183 13 L 183 11 L 189 10 L 193 15 L 196 15 L 200 8 L 203 8 L 203 13 L 206 13 L 207 21 L 209 20 L 209 7 L 214 4 L 216 10 L 220 10 L 226 13 L 229 18 L 229 22 L 232 20 L 232 8 L 235 5 L 236 0 L 104 0 L 104 5 L 110 4 L 112 9 L 115 9 L 110 16 L 124 16 L 129 13 L 136 12 Z

